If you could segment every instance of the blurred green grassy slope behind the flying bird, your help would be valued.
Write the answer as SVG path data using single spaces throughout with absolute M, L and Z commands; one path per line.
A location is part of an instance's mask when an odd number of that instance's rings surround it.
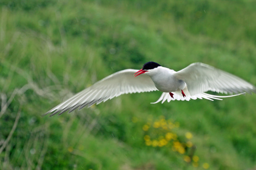
M 41 115 L 148 61 L 204 62 L 256 85 L 255 19 L 254 0 L 0 0 L 0 169 L 254 170 L 255 94 L 150 104 L 156 91 Z M 158 119 L 193 155 L 147 146 Z

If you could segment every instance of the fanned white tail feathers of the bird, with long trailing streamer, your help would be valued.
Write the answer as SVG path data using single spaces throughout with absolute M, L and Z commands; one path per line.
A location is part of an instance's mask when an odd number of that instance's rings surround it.
M 173 98 L 171 98 L 171 96 L 169 95 L 169 93 L 163 93 L 160 98 L 156 101 L 156 102 L 153 102 L 152 104 L 155 104 L 155 103 L 158 103 L 160 101 L 165 102 L 167 100 L 167 102 L 170 102 L 171 100 L 187 100 L 189 101 L 190 99 L 207 99 L 207 100 L 222 100 L 221 98 L 228 98 L 228 97 L 233 97 L 233 96 L 238 96 L 238 95 L 241 95 L 241 94 L 235 94 L 235 95 L 231 95 L 231 96 L 216 96 L 216 95 L 212 95 L 212 94 L 207 94 L 207 93 L 200 93 L 200 94 L 195 94 L 193 96 L 191 96 L 189 94 L 189 91 L 187 89 L 187 87 L 185 89 L 183 89 L 184 91 L 184 94 L 186 94 L 186 97 L 183 97 L 180 90 L 179 91 L 174 91 L 172 92 L 174 95 L 173 95 Z M 244 93 L 242 93 L 244 94 Z

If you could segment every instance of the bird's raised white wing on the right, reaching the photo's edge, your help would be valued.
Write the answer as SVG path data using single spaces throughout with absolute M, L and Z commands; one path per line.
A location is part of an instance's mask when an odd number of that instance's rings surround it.
M 203 63 L 190 64 L 174 75 L 187 84 L 191 96 L 206 91 L 225 94 L 256 93 L 256 87 L 247 81 Z

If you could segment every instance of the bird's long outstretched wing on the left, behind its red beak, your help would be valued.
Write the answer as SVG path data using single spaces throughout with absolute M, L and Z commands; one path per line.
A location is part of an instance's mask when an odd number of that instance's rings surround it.
M 59 113 L 61 115 L 67 110 L 72 112 L 78 107 L 89 107 L 94 103 L 99 104 L 102 101 L 105 102 L 121 94 L 156 91 L 157 89 L 148 75 L 141 74 L 139 77 L 133 76 L 137 71 L 135 69 L 126 69 L 111 74 L 52 108 L 46 114 L 52 113 L 52 116 Z

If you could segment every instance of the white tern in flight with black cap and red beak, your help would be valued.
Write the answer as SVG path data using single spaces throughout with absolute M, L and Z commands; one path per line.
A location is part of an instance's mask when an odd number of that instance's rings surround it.
M 135 75 L 136 74 L 136 75 Z M 134 76 L 135 75 L 135 76 Z M 140 75 L 140 76 L 139 76 Z M 137 77 L 138 76 L 138 77 Z M 96 82 L 91 87 L 49 110 L 50 116 L 69 110 L 69 113 L 85 106 L 105 102 L 121 94 L 162 91 L 154 103 L 171 100 L 208 99 L 238 96 L 245 92 L 256 93 L 256 87 L 243 79 L 203 63 L 193 63 L 176 72 L 162 67 L 156 62 L 147 62 L 141 70 L 126 69 L 116 72 Z M 214 91 L 232 96 L 215 96 L 204 93 Z

